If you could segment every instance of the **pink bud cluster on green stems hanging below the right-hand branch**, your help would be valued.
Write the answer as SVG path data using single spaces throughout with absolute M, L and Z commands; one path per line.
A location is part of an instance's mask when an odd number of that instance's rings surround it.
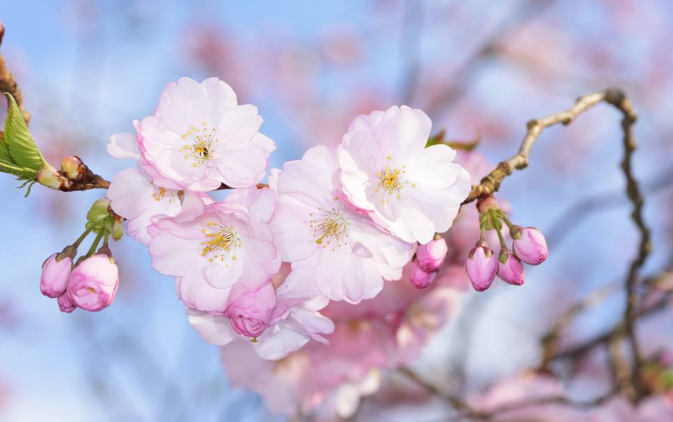
M 465 268 L 472 286 L 484 291 L 493 284 L 496 274 L 500 279 L 515 286 L 523 284 L 523 263 L 538 265 L 547 259 L 547 243 L 542 233 L 534 227 L 521 227 L 512 224 L 500 209 L 493 197 L 486 197 L 477 203 L 480 213 L 482 235 L 470 250 Z M 509 227 L 512 248 L 507 247 L 502 235 L 502 223 Z M 489 243 L 486 242 L 486 230 L 495 230 L 500 239 L 500 254 L 496 258 Z

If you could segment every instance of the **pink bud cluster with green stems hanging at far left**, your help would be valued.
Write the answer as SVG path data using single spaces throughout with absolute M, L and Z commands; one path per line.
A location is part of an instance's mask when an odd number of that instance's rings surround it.
M 58 300 L 58 308 L 70 313 L 76 308 L 100 311 L 114 299 L 119 284 L 117 264 L 108 246 L 109 239 L 122 237 L 121 218 L 111 212 L 109 200 L 97 200 L 87 214 L 85 231 L 72 245 L 53 254 L 42 264 L 40 291 Z M 77 248 L 94 233 L 88 252 L 77 261 Z M 99 243 L 102 246 L 97 250 Z

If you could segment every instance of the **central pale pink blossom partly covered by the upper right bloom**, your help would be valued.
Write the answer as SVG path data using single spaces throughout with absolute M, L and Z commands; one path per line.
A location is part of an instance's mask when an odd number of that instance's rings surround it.
M 308 149 L 278 175 L 274 219 L 283 261 L 331 300 L 373 298 L 383 280 L 399 279 L 412 245 L 377 228 L 345 201 L 334 147 Z

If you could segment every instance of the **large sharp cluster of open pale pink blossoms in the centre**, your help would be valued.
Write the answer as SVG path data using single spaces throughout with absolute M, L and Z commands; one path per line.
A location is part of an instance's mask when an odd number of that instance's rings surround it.
M 170 83 L 135 133 L 111 137 L 109 154 L 137 167 L 107 197 L 152 266 L 175 277 L 203 339 L 252 339 L 260 357 L 280 359 L 326 342 L 334 324 L 321 309 L 376 297 L 414 251 L 411 282 L 428 286 L 447 252 L 434 237 L 470 177 L 453 149 L 427 147 L 425 113 L 395 106 L 356 117 L 339 145 L 309 149 L 261 185 L 276 148 L 261 124 L 223 81 Z

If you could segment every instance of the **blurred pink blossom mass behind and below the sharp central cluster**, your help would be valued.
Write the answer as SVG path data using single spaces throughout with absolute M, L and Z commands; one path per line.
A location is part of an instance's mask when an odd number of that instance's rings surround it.
M 381 370 L 418 359 L 459 300 L 454 285 L 464 282 L 443 277 L 420 291 L 409 282 L 410 266 L 372 300 L 330 302 L 322 311 L 335 322 L 333 334 L 326 336 L 329 346 L 311 342 L 277 362 L 250 357 L 254 344 L 249 341 L 224 346 L 221 357 L 232 385 L 257 391 L 274 413 L 317 421 L 352 416 L 361 398 L 379 389 Z M 462 271 L 450 273 L 466 278 Z

